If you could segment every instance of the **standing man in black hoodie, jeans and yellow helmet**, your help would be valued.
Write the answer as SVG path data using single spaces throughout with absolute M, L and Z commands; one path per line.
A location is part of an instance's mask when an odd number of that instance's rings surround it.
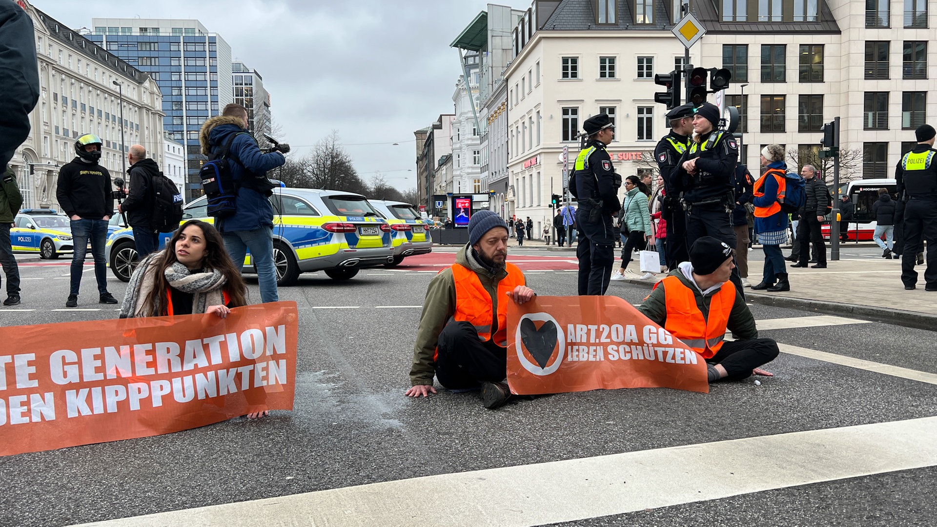
M 78 306 L 78 292 L 82 286 L 84 255 L 88 242 L 95 258 L 98 300 L 101 304 L 116 304 L 117 299 L 108 292 L 108 270 L 104 261 L 104 244 L 108 238 L 108 220 L 114 211 L 111 173 L 97 164 L 101 158 L 101 138 L 93 133 L 82 135 L 75 142 L 78 157 L 59 170 L 55 197 L 62 210 L 71 218 L 74 249 L 71 258 L 71 289 L 66 308 Z

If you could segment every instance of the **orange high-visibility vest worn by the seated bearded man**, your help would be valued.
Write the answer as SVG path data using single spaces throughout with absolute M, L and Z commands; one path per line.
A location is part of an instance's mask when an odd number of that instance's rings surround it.
M 454 264 L 453 279 L 455 281 L 455 313 L 453 320 L 468 322 L 478 331 L 478 338 L 483 342 L 494 340 L 498 346 L 508 345 L 508 302 L 507 295 L 518 285 L 524 285 L 524 273 L 514 264 L 505 263 L 508 276 L 498 281 L 498 298 L 493 300 L 488 290 L 482 285 L 478 274 L 461 264 Z M 498 330 L 494 337 L 491 335 L 491 324 L 494 322 L 492 304 L 498 305 Z

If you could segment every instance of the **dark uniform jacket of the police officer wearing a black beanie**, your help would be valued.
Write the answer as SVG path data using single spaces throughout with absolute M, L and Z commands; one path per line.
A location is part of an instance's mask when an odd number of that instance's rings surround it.
M 696 173 L 683 169 L 683 162 L 696 159 Z M 738 143 L 730 134 L 713 130 L 691 143 L 677 167 L 678 190 L 687 203 L 725 203 L 733 190 Z

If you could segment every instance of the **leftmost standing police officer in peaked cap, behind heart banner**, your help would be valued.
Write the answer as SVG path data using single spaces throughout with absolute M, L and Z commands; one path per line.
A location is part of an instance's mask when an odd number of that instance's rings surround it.
M 607 113 L 599 113 L 583 123 L 588 141 L 579 152 L 570 181 L 570 191 L 579 202 L 576 224 L 579 229 L 579 294 L 605 294 L 615 263 L 617 230 L 612 217 L 621 209 L 618 188 L 621 176 L 615 173 L 605 145 L 615 138 L 615 125 Z

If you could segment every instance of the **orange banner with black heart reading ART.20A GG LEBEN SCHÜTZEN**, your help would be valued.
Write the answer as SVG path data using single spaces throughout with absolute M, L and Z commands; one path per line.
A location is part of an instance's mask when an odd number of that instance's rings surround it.
M 617 296 L 537 296 L 508 308 L 515 394 L 617 388 L 709 393 L 706 361 Z

